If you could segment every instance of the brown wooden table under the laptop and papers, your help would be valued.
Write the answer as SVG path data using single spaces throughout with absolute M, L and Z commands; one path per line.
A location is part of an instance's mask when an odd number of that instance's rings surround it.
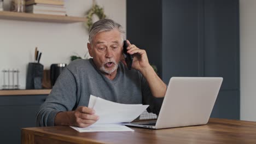
M 256 143 L 256 122 L 210 118 L 206 125 L 133 132 L 79 133 L 70 127 L 23 128 L 22 143 Z

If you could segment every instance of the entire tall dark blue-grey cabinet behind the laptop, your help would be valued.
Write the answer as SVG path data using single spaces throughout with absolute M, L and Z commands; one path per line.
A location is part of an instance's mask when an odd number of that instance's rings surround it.
M 147 51 L 161 79 L 223 77 L 211 117 L 240 119 L 238 0 L 126 3 L 127 39 Z

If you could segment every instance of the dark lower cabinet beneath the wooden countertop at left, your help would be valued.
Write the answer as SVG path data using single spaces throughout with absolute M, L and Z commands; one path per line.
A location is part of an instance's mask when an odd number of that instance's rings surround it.
M 36 113 L 47 95 L 0 96 L 0 141 L 20 143 L 21 128 L 36 127 Z

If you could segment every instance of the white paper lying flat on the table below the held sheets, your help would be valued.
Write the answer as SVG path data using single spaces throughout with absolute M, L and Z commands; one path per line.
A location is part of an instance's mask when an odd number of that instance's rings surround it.
M 134 131 L 126 127 L 125 125 L 119 124 L 92 124 L 86 128 L 71 127 L 80 133 L 82 132 L 96 132 L 96 131 Z

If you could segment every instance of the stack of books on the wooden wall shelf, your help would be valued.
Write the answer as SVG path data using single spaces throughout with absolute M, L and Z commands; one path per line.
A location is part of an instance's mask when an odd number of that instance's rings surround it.
M 26 0 L 26 13 L 66 15 L 63 0 Z

